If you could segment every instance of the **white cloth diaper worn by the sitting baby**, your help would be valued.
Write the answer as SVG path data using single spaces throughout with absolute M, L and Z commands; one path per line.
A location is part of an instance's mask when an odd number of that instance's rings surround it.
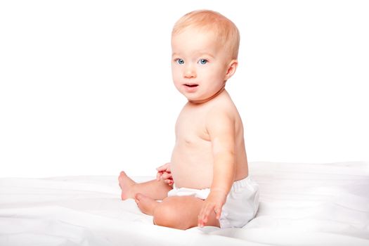
M 190 189 L 176 188 L 169 190 L 168 196 L 190 195 L 195 198 L 205 200 L 210 193 L 210 189 Z M 221 228 L 237 227 L 241 228 L 252 220 L 257 214 L 259 207 L 259 185 L 247 178 L 235 181 L 228 193 L 226 204 L 221 209 L 219 223 Z

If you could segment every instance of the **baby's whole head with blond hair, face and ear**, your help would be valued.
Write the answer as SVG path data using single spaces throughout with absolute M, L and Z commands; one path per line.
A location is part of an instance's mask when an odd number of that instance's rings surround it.
M 184 15 L 171 33 L 174 85 L 193 103 L 216 97 L 236 70 L 239 44 L 237 27 L 220 13 Z

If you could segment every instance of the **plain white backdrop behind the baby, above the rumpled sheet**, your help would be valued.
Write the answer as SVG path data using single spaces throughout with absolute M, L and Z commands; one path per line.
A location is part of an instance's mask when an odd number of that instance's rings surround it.
M 369 160 L 368 1 L 1 1 L 0 176 L 155 175 L 186 103 L 171 27 L 198 8 L 240 30 L 250 162 Z

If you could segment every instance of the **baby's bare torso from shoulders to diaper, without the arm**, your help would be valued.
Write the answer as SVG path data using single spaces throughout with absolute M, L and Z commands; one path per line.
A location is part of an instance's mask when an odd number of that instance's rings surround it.
M 202 104 L 187 103 L 176 122 L 176 144 L 171 155 L 171 173 L 176 187 L 209 188 L 213 178 L 213 149 L 207 131 L 209 112 L 230 116 L 235 131 L 235 181 L 248 174 L 242 120 L 224 90 Z M 214 117 L 212 117 L 214 119 Z

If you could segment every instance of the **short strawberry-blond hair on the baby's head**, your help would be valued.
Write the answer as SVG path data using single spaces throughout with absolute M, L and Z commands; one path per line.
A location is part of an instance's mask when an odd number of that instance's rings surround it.
M 240 46 L 240 32 L 238 32 L 235 24 L 224 15 L 208 10 L 187 13 L 174 24 L 171 37 L 183 32 L 188 27 L 214 32 L 216 39 L 230 53 L 231 59 L 237 59 L 238 47 Z

